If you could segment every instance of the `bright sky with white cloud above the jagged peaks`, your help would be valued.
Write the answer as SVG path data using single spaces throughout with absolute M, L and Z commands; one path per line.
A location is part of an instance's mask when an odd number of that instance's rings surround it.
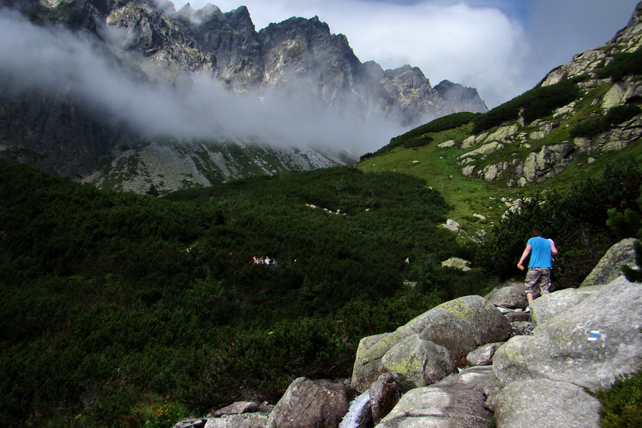
M 360 61 L 422 69 L 478 89 L 492 108 L 536 85 L 574 54 L 605 44 L 637 0 L 190 0 L 224 12 L 248 6 L 257 31 L 319 16 Z M 174 1 L 178 10 L 187 1 Z

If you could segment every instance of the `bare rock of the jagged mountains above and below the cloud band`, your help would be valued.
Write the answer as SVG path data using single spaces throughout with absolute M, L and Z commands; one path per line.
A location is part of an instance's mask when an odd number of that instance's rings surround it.
M 198 11 L 187 4 L 177 12 L 169 2 L 157 4 L 0 1 L 0 7 L 13 6 L 35 23 L 56 22 L 83 34 L 97 56 L 140 83 L 180 88 L 208 76 L 230 93 L 277 92 L 319 111 L 397 126 L 418 123 L 426 115 L 487 110 L 474 88 L 450 82 L 432 88 L 419 68 L 384 71 L 377 63 L 362 63 L 345 36 L 331 34 L 317 17 L 291 18 L 256 31 L 245 6 L 223 13 L 211 4 Z M 175 190 L 280 170 L 346 165 L 358 156 L 298 151 L 297 145 L 284 148 L 261 136 L 252 141 L 205 136 L 198 143 L 182 141 L 180 135 L 149 136 L 134 131 L 127 118 L 108 121 L 104 106 L 79 99 L 73 88 L 57 85 L 55 94 L 41 86 L 16 92 L 11 86 L 16 76 L 0 77 L 0 157 L 73 178 L 102 166 L 87 180 L 103 187 Z M 158 146 L 168 149 L 163 156 L 153 156 Z

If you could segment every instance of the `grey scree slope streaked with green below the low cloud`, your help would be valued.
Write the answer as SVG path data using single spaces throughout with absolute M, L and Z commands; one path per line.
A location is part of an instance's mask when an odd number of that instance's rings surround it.
M 208 186 L 252 175 L 312 170 L 347 165 L 354 158 L 312 148 L 269 144 L 141 142 L 122 151 L 86 176 L 83 183 L 136 193 L 168 193 L 185 187 Z M 136 173 L 129 171 L 136 165 Z M 114 184 L 116 183 L 116 184 Z

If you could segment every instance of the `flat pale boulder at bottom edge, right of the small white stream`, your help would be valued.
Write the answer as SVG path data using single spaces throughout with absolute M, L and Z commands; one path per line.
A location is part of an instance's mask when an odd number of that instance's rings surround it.
M 484 387 L 494 380 L 490 367 L 472 367 L 429 387 L 404 394 L 377 428 L 487 428 Z

